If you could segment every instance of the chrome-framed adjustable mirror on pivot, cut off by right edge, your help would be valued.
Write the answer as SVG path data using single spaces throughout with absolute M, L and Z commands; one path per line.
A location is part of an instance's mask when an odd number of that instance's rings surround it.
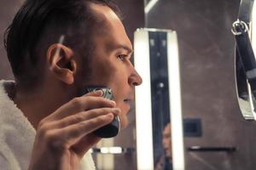
M 246 120 L 256 120 L 254 16 L 253 1 L 241 1 L 238 19 L 233 23 L 231 30 L 236 38 L 236 93 L 241 114 Z

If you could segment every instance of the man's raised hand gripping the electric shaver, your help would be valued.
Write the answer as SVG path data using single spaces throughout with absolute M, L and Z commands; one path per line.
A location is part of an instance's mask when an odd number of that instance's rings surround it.
M 39 124 L 30 170 L 74 170 L 100 138 L 92 134 L 113 121 L 120 110 L 112 100 L 92 92 L 62 105 Z

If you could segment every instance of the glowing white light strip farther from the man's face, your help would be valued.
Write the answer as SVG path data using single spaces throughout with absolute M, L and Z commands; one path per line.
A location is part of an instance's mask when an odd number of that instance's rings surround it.
M 179 72 L 179 56 L 177 48 L 177 34 L 175 31 L 167 33 L 167 62 L 169 81 L 169 100 L 171 108 L 172 126 L 172 166 L 174 170 L 183 170 L 183 116 L 181 105 L 181 88 Z

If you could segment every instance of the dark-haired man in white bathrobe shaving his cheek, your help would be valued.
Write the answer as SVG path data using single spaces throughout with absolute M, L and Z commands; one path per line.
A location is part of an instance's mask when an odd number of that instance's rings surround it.
M 0 168 L 94 169 L 92 132 L 113 116 L 125 127 L 142 83 L 113 3 L 26 0 L 5 45 L 15 82 L 1 81 Z M 82 95 L 91 85 L 112 88 L 113 101 Z

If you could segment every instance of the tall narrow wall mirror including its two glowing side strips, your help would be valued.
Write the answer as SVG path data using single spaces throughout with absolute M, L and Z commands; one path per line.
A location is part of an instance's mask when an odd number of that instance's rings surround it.
M 134 65 L 143 77 L 143 84 L 136 90 L 137 169 L 183 170 L 176 31 L 138 29 Z

